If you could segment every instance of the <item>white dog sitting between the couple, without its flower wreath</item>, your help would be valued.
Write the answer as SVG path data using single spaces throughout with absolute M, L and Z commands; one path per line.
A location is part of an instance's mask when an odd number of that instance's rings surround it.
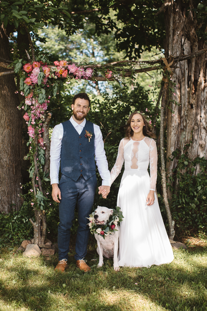
M 95 210 L 94 220 L 96 225 L 106 225 L 107 220 L 113 214 L 113 210 L 104 206 L 98 206 Z M 114 258 L 114 270 L 119 271 L 118 264 L 118 248 L 119 248 L 119 227 L 115 227 L 115 233 L 105 235 L 105 239 L 95 233 L 97 240 L 97 253 L 99 254 L 99 263 L 97 267 L 103 266 L 103 256 L 106 258 Z

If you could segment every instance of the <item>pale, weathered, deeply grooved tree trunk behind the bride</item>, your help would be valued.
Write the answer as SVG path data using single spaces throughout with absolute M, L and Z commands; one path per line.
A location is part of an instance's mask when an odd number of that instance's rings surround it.
M 192 7 L 192 2 L 189 2 Z M 180 55 L 182 44 L 182 55 L 190 54 L 206 48 L 204 41 L 199 41 L 196 35 L 197 21 L 194 12 L 190 11 L 186 17 L 186 9 L 181 7 L 181 2 L 175 1 L 165 10 L 166 42 L 165 57 L 171 53 L 174 57 Z M 173 25 L 171 25 L 173 23 Z M 171 40 L 172 39 L 172 44 Z M 181 154 L 184 153 L 186 144 L 188 156 L 207 158 L 207 82 L 206 53 L 178 63 L 179 68 L 175 70 L 172 81 L 176 83 L 173 99 L 181 105 L 169 104 L 175 112 L 173 116 L 168 109 L 167 128 L 167 158 L 177 148 Z M 167 163 L 167 171 L 170 172 L 177 165 L 174 159 Z M 196 167 L 196 173 L 199 166 Z

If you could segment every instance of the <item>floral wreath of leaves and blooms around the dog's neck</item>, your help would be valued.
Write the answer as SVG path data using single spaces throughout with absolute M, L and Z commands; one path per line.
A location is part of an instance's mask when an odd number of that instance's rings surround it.
M 91 230 L 92 234 L 100 234 L 104 239 L 105 236 L 115 233 L 115 231 L 118 231 L 116 229 L 117 225 L 120 226 L 120 222 L 123 220 L 123 214 L 122 211 L 120 211 L 120 207 L 116 206 L 116 209 L 113 208 L 113 214 L 109 217 L 109 220 L 107 221 L 106 225 L 96 225 L 95 219 L 94 219 L 95 212 L 92 212 L 92 214 L 89 215 L 89 228 Z

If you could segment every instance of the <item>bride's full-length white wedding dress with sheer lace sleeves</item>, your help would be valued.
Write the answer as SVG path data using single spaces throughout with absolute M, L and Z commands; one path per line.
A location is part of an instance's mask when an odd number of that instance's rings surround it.
M 150 162 L 150 176 L 148 166 Z M 141 141 L 123 138 L 116 163 L 111 170 L 111 184 L 124 163 L 117 206 L 124 219 L 119 231 L 119 266 L 150 267 L 173 261 L 169 242 L 155 194 L 155 202 L 147 206 L 150 190 L 157 179 L 157 148 L 152 138 Z

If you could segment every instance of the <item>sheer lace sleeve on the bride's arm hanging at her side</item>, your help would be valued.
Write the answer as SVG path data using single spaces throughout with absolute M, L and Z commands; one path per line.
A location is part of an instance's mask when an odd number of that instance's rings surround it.
M 150 143 L 150 190 L 155 191 L 157 181 L 157 146 L 152 139 Z

